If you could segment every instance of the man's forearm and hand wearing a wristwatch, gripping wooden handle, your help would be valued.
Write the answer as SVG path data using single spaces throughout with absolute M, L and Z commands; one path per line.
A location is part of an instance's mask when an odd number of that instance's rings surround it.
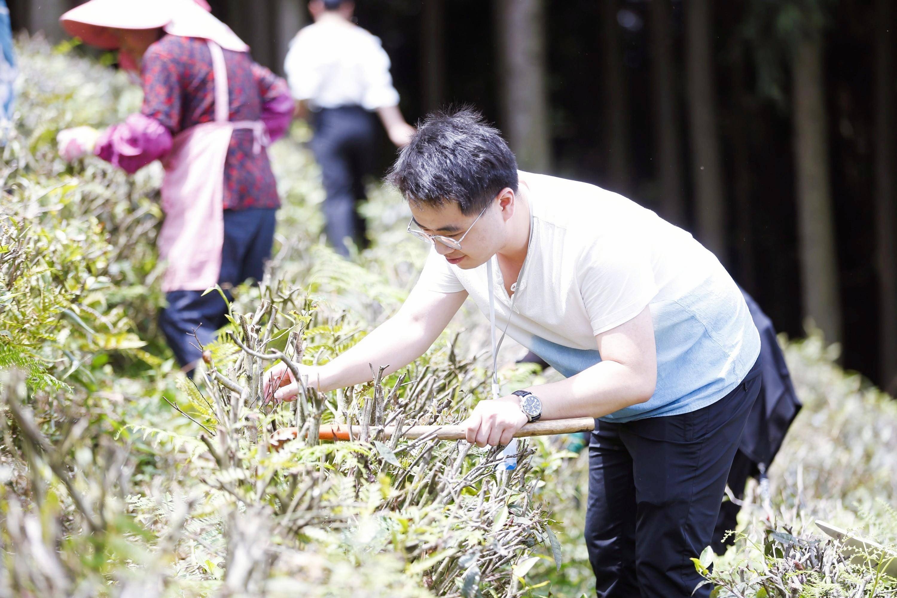
M 599 363 L 560 382 L 527 388 L 541 399 L 543 420 L 598 418 L 645 403 L 654 394 L 658 356 L 649 308 L 595 338 Z M 467 441 L 477 446 L 507 445 L 527 422 L 519 400 L 511 394 L 477 403 L 461 424 L 467 429 Z

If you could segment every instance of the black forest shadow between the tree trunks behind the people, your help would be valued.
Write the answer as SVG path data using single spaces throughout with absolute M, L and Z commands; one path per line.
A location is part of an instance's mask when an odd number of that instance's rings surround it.
M 550 148 L 545 163 L 551 164 L 551 174 L 618 190 L 663 212 L 665 192 L 658 181 L 656 132 L 664 124 L 658 122 L 655 109 L 658 95 L 651 69 L 656 54 L 650 48 L 649 10 L 651 2 L 665 0 L 611 2 L 614 6 L 610 13 L 616 21 L 611 26 L 619 39 L 619 54 L 615 56 L 608 56 L 605 45 L 606 1 L 544 0 L 544 85 L 548 98 L 544 118 L 549 125 Z M 685 11 L 690 10 L 691 1 L 670 3 L 666 26 L 673 42 L 675 115 L 681 140 L 681 191 L 686 208 L 682 224 L 701 240 L 693 226 L 692 175 L 694 143 L 700 140 L 688 134 L 685 65 Z M 881 233 L 876 235 L 876 219 L 881 217 L 876 198 L 881 202 L 883 197 L 875 182 L 876 137 L 890 139 L 894 135 L 893 126 L 880 126 L 891 122 L 886 112 L 893 107 L 875 102 L 875 65 L 883 59 L 883 47 L 876 47 L 876 39 L 882 39 L 876 38 L 876 24 L 882 19 L 893 22 L 893 15 L 886 6 L 883 8 L 887 1 L 719 0 L 710 2 L 709 32 L 724 195 L 718 201 L 727 206 L 726 247 L 717 253 L 736 282 L 757 299 L 777 328 L 790 336 L 806 334 L 802 289 L 807 285 L 812 288 L 814 282 L 806 280 L 799 253 L 797 205 L 801 200 L 796 183 L 796 112 L 791 102 L 795 82 L 788 43 L 794 35 L 807 34 L 807 30 L 823 40 L 828 142 L 828 163 L 823 166 L 828 167 L 831 183 L 842 362 L 882 386 L 890 385 L 895 374 L 893 352 L 881 347 L 886 326 L 883 320 L 893 321 L 884 316 L 897 308 L 881 292 L 884 282 L 893 281 L 893 269 L 876 261 L 880 259 L 876 248 L 882 242 Z M 213 13 L 253 47 L 257 60 L 275 71 L 282 71 L 290 23 L 298 27 L 301 21 L 309 20 L 304 3 L 213 0 L 211 4 Z M 43 23 L 52 22 L 48 13 L 61 13 L 67 5 L 65 0 L 13 0 L 13 26 L 38 29 L 41 19 Z M 504 97 L 532 90 L 519 89 L 502 76 L 499 40 L 503 23 L 497 18 L 497 2 L 444 0 L 435 5 L 441 38 L 438 48 L 444 66 L 434 74 L 424 61 L 425 42 L 432 29 L 423 25 L 420 0 L 358 2 L 357 21 L 382 39 L 392 59 L 405 117 L 414 122 L 434 105 L 470 103 L 504 126 L 508 122 L 502 112 Z M 788 14 L 782 16 L 788 8 L 797 11 L 796 21 L 789 22 Z M 813 22 L 807 16 L 814 14 L 821 14 L 822 20 Z M 762 23 L 770 19 L 773 24 L 764 27 Z M 44 29 L 51 29 L 51 25 L 46 24 Z M 527 35 L 527 31 L 510 34 Z M 893 57 L 893 40 L 887 36 L 885 40 L 884 51 Z M 625 181 L 610 175 L 608 147 L 614 132 L 607 102 L 614 91 L 608 89 L 605 68 L 612 60 L 623 65 L 627 109 L 621 116 L 631 172 Z M 893 89 L 893 74 L 888 76 L 885 84 Z M 442 89 L 440 97 L 424 93 L 427 77 L 435 77 Z M 385 169 L 394 155 L 395 149 L 384 139 L 380 169 Z M 883 168 L 882 164 L 893 169 L 893 156 L 887 155 L 877 168 Z M 890 192 L 884 199 L 893 202 Z M 888 330 L 892 328 L 888 326 Z

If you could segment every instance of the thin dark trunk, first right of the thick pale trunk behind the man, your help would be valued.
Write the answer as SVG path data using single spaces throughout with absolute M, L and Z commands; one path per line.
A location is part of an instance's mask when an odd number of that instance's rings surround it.
M 619 0 L 599 0 L 601 3 L 601 38 L 604 41 L 604 97 L 609 187 L 628 195 L 631 191 L 631 151 L 629 143 L 629 93 L 623 65 L 623 40 L 617 23 Z

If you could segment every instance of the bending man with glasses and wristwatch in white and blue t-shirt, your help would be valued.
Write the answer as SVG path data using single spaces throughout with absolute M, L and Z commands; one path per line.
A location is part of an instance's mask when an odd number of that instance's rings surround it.
M 621 195 L 518 172 L 471 111 L 429 117 L 390 178 L 409 230 L 433 243 L 421 278 L 395 316 L 301 375 L 327 391 L 370 380 L 369 363 L 403 368 L 468 296 L 488 313 L 492 293 L 499 329 L 567 378 L 481 401 L 467 440 L 504 445 L 527 420 L 597 418 L 586 529 L 597 595 L 709 596 L 692 594 L 690 559 L 710 544 L 760 388 L 760 337 L 716 257 Z M 285 369 L 266 377 L 275 398 L 298 392 Z

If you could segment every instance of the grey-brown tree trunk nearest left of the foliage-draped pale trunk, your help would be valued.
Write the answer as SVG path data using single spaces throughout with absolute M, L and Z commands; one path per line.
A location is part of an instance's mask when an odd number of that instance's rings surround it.
M 695 191 L 697 237 L 724 264 L 726 197 L 719 164 L 713 47 L 710 43 L 710 0 L 689 0 L 684 6 L 687 41 L 689 121 Z

